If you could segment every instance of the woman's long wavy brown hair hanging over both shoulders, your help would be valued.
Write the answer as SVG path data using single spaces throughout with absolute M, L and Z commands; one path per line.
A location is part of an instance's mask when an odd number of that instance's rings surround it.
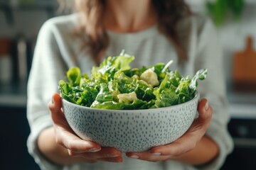
M 99 64 L 110 42 L 102 22 L 105 0 L 75 2 L 77 11 L 81 13 L 80 26 L 75 29 L 75 35 L 83 38 L 81 48 L 86 47 L 93 60 Z M 182 18 L 191 15 L 191 10 L 183 0 L 151 0 L 151 2 L 158 15 L 159 31 L 173 43 L 179 59 L 186 60 L 185 52 L 178 40 L 176 25 Z

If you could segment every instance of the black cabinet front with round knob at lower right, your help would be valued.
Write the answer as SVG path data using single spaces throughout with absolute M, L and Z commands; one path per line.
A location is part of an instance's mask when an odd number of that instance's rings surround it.
M 228 124 L 228 130 L 234 140 L 234 150 L 221 170 L 256 169 L 256 119 L 233 118 Z

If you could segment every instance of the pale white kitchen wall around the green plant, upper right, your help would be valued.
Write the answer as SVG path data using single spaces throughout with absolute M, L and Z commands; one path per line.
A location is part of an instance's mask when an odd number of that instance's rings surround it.
M 193 11 L 207 13 L 204 6 L 205 0 L 187 0 Z M 223 25 L 217 28 L 220 38 L 220 44 L 223 47 L 225 64 L 225 76 L 230 83 L 233 79 L 233 57 L 235 52 L 245 49 L 245 38 L 251 35 L 255 40 L 254 48 L 256 50 L 256 1 L 245 0 L 244 11 L 240 20 L 228 19 Z

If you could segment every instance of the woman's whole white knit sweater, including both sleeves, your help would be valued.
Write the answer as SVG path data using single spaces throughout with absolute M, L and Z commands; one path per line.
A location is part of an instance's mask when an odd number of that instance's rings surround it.
M 129 159 L 124 155 L 124 162 L 96 164 L 76 164 L 60 167 L 48 162 L 36 147 L 39 133 L 52 125 L 47 103 L 54 92 L 58 91 L 58 81 L 65 77 L 69 67 L 78 66 L 83 73 L 90 74 L 95 62 L 86 50 L 80 52 L 80 40 L 71 31 L 78 24 L 78 14 L 52 18 L 44 23 L 38 35 L 33 64 L 28 80 L 28 122 L 31 134 L 28 137 L 28 151 L 35 158 L 41 169 L 131 169 L 131 170 L 164 170 L 164 169 L 196 169 L 196 167 L 181 162 L 144 162 Z M 230 119 L 228 103 L 225 94 L 225 79 L 223 71 L 222 53 L 218 47 L 218 36 L 213 24 L 202 16 L 191 16 L 182 21 L 178 32 L 188 61 L 178 64 L 178 57 L 174 46 L 159 33 L 156 26 L 137 33 L 115 33 L 108 31 L 110 46 L 106 56 L 119 55 L 126 50 L 134 55 L 132 67 L 149 66 L 158 62 L 167 63 L 174 60 L 171 69 L 178 69 L 183 76 L 195 74 L 198 69 L 207 68 L 208 77 L 199 82 L 198 90 L 201 97 L 206 97 L 213 107 L 213 119 L 207 134 L 220 147 L 218 157 L 201 169 L 219 169 L 227 154 L 233 149 L 233 142 L 228 134 L 226 125 Z

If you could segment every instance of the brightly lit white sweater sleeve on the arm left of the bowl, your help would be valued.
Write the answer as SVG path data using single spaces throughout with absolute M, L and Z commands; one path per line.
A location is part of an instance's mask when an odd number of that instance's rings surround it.
M 48 102 L 58 91 L 58 80 L 64 77 L 64 62 L 55 40 L 53 22 L 43 24 L 36 42 L 33 63 L 28 79 L 27 118 L 31 128 L 28 136 L 28 152 L 41 169 L 62 169 L 48 161 L 37 147 L 38 135 L 53 125 L 48 111 Z

